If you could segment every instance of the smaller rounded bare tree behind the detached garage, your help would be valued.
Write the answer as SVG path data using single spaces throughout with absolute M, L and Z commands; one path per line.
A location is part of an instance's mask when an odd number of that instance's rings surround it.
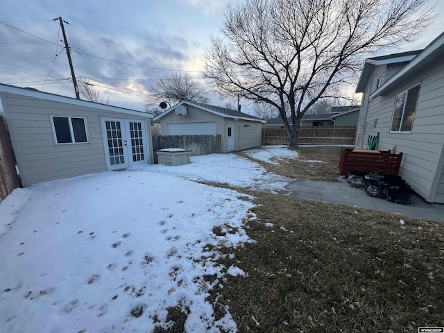
M 146 112 L 159 110 L 157 106 L 164 102 L 171 108 L 174 103 L 188 99 L 190 101 L 206 103 L 207 89 L 190 74 L 173 74 L 167 78 L 160 78 L 153 87 L 153 93 L 146 97 Z M 160 109 L 162 110 L 162 109 Z M 162 113 L 162 112 L 161 112 Z

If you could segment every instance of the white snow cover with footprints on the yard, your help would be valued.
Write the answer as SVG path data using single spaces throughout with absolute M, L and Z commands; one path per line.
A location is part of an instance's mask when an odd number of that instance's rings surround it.
M 298 158 L 283 146 L 248 154 Z M 243 157 L 212 154 L 12 191 L 0 205 L 2 332 L 153 332 L 169 327 L 169 307 L 188 312 L 186 332 L 237 332 L 229 305 L 214 318 L 207 296 L 225 276 L 248 273 L 218 246 L 253 241 L 244 229 L 256 219 L 253 198 L 193 180 L 268 191 L 287 184 Z M 222 255 L 234 264 L 216 264 Z

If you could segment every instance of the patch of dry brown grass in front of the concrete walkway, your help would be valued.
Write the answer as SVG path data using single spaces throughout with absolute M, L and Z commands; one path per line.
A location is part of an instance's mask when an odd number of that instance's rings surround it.
M 257 205 L 257 220 L 246 222 L 256 242 L 224 248 L 234 259 L 221 259 L 246 276 L 229 276 L 210 297 L 216 314 L 229 305 L 239 332 L 444 326 L 442 223 L 404 218 L 401 225 L 395 214 L 247 194 Z

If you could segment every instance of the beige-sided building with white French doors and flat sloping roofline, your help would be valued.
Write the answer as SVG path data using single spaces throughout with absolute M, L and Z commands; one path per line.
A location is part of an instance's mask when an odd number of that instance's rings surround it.
M 0 84 L 22 185 L 153 163 L 151 115 Z

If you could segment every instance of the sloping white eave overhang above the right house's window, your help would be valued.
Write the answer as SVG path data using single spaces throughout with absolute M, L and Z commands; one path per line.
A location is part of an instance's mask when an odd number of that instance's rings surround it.
M 413 60 L 402 67 L 391 78 L 386 80 L 384 84 L 373 92 L 371 96 L 379 96 L 386 92 L 387 89 L 393 87 L 400 80 L 404 80 L 408 76 L 428 66 L 436 66 L 437 62 L 442 62 L 444 58 L 444 33 L 441 33 L 435 40 L 426 46 Z

